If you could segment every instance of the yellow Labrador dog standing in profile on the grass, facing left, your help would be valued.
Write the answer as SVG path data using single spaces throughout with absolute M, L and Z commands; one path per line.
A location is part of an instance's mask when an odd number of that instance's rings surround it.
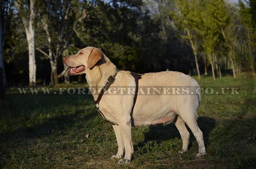
M 99 98 L 102 87 L 108 83 L 110 77 L 114 77 L 110 83 L 112 89 L 113 87 L 127 87 L 130 91 L 136 91 L 136 80 L 131 72 L 118 71 L 110 59 L 96 47 L 81 49 L 75 55 L 64 57 L 63 62 L 71 67 L 70 75 L 86 74 L 94 101 Z M 137 100 L 134 99 L 134 92 L 132 94 L 123 92 L 101 94 L 102 98 L 96 105 L 101 115 L 113 124 L 118 151 L 112 157 L 120 158 L 119 163 L 131 162 L 133 125 L 167 124 L 170 122 L 175 123 L 183 141 L 182 150 L 179 153 L 187 151 L 188 147 L 189 132 L 186 129 L 186 123 L 199 145 L 199 153 L 196 157 L 206 154 L 203 133 L 197 125 L 200 94 L 197 92 L 199 84 L 196 80 L 177 71 L 162 71 L 144 74 L 138 84 Z M 170 90 L 167 86 L 184 86 L 184 90 L 181 89 L 182 93 L 179 93 L 179 88 L 176 88 L 172 92 L 167 92 Z M 158 87 L 163 87 L 163 89 Z M 159 89 L 159 92 L 147 94 L 146 91 L 151 89 Z

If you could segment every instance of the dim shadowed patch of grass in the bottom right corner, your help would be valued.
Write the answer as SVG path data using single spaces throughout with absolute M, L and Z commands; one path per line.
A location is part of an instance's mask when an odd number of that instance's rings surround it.
M 220 146 L 213 152 L 229 158 L 230 168 L 256 168 L 256 97 L 244 98 L 236 117 L 222 120 L 219 131 L 212 133 Z

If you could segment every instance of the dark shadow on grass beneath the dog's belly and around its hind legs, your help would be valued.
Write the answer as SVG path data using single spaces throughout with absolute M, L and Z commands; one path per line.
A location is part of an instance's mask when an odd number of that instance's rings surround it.
M 204 135 L 204 142 L 206 149 L 209 144 L 209 133 L 215 127 L 215 119 L 209 117 L 199 117 L 197 120 L 198 126 L 203 132 Z M 187 126 L 186 126 L 187 127 Z M 196 139 L 190 129 L 187 127 L 190 133 L 190 141 L 189 147 L 191 147 L 191 143 Z M 174 124 L 169 125 L 153 125 L 150 126 L 150 131 L 144 133 L 144 140 L 139 142 L 137 145 L 134 146 L 134 149 L 137 150 L 138 148 L 142 148 L 145 146 L 147 141 L 155 140 L 158 144 L 164 140 L 174 139 L 176 137 L 181 138 L 180 133 Z

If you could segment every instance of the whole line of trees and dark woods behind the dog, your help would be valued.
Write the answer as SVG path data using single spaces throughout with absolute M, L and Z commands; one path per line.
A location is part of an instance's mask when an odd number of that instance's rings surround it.
M 81 81 L 61 58 L 86 46 L 139 73 L 255 70 L 255 0 L 3 0 L 0 13 L 2 86 Z

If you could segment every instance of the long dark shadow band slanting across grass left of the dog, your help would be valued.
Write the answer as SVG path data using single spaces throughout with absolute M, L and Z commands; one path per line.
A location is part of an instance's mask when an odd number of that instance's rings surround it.
M 0 143 L 25 140 L 28 138 L 40 138 L 44 135 L 50 135 L 53 131 L 60 131 L 61 133 L 61 131 L 65 131 L 78 123 L 77 120 L 80 118 L 82 118 L 83 121 L 88 121 L 97 115 L 94 111 L 84 114 L 85 111 L 86 109 L 76 110 L 74 114 L 59 115 L 32 127 L 19 128 L 12 132 L 0 134 Z

